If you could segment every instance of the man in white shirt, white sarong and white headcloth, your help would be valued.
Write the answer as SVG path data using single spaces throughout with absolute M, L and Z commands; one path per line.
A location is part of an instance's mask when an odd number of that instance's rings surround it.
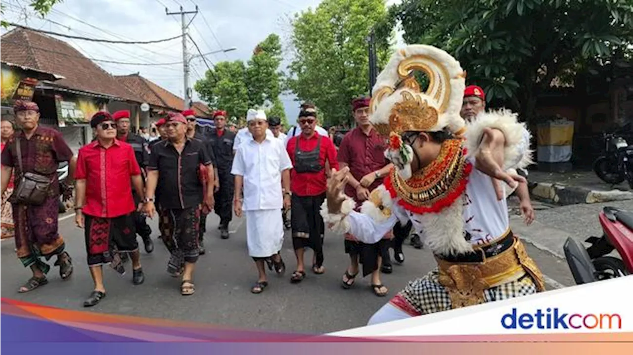
M 264 111 L 249 109 L 246 121 L 252 138 L 237 147 L 231 173 L 235 175 L 235 215 L 241 217 L 242 211 L 246 215 L 248 253 L 259 273 L 251 292 L 259 294 L 268 286 L 264 261 L 271 268 L 274 265 L 280 275 L 285 271 L 280 254 L 284 223 L 279 209 L 290 208 L 292 163 L 284 143 L 266 134 Z

